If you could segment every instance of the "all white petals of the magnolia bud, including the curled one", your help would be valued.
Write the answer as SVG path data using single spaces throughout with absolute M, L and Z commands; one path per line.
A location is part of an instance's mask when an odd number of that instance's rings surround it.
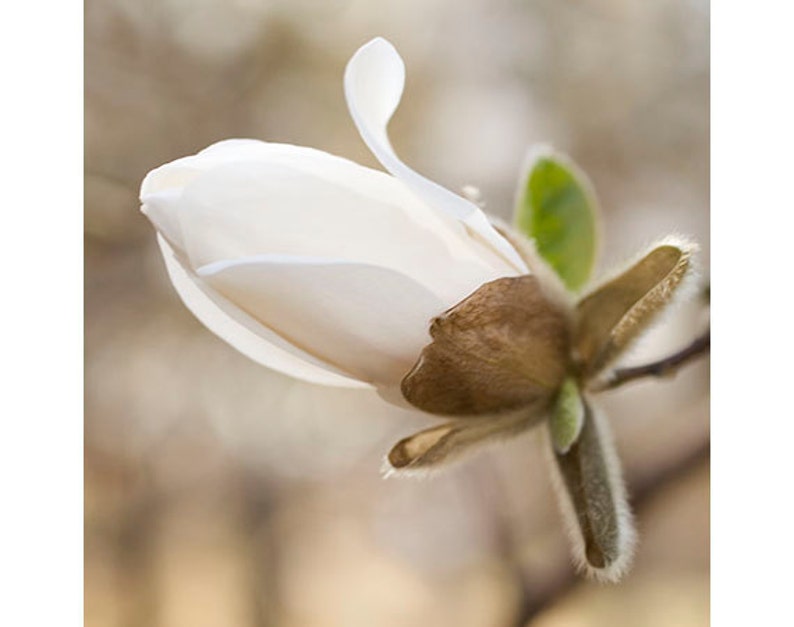
M 475 204 L 395 154 L 386 127 L 404 82 L 380 38 L 345 72 L 350 114 L 389 174 L 233 139 L 143 181 L 142 211 L 182 300 L 251 359 L 314 383 L 394 390 L 434 316 L 488 281 L 528 273 Z

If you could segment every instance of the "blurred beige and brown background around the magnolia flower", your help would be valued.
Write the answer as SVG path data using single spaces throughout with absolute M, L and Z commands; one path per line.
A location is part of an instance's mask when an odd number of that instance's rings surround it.
M 668 626 L 709 619 L 708 360 L 604 394 L 637 513 L 617 586 L 572 575 L 537 433 L 425 481 L 384 454 L 428 426 L 287 379 L 205 330 L 138 211 L 150 169 L 230 137 L 377 167 L 342 73 L 407 65 L 398 152 L 509 217 L 527 148 L 568 152 L 601 269 L 671 231 L 709 259 L 705 0 L 86 0 L 88 627 Z M 679 307 L 632 364 L 686 345 Z

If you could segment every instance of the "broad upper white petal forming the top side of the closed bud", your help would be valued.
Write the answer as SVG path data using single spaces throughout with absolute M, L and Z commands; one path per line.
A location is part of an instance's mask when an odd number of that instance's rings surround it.
M 332 177 L 319 177 L 305 171 L 319 161 L 298 159 L 302 152 L 294 163 L 222 165 L 188 185 L 179 211 L 192 267 L 262 254 L 332 257 L 396 270 L 447 306 L 514 273 L 485 262 L 465 233 L 433 220 L 396 179 L 329 155 L 321 161 Z

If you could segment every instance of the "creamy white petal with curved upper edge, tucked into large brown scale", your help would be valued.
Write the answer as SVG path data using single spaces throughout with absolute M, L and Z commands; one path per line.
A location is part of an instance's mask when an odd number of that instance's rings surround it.
M 198 272 L 282 337 L 379 386 L 399 383 L 445 307 L 410 278 L 365 264 L 263 255 Z

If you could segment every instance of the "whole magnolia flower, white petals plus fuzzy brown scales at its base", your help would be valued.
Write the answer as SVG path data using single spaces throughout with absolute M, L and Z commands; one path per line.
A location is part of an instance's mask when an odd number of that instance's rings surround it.
M 545 420 L 577 559 L 616 579 L 634 532 L 587 390 L 670 301 L 692 247 L 665 241 L 577 302 L 592 259 L 566 273 L 542 238 L 495 225 L 395 154 L 387 125 L 404 81 L 383 39 L 345 72 L 353 121 L 388 174 L 253 140 L 150 172 L 142 211 L 169 276 L 201 322 L 262 365 L 448 417 L 399 442 L 393 469 L 433 468 Z M 557 157 L 533 164 L 544 159 Z

